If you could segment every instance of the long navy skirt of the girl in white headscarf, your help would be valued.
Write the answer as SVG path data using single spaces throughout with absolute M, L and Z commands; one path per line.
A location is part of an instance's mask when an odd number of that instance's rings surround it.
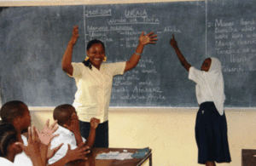
M 195 140 L 198 163 L 230 163 L 230 148 L 225 114 L 220 116 L 213 102 L 204 102 L 197 112 Z

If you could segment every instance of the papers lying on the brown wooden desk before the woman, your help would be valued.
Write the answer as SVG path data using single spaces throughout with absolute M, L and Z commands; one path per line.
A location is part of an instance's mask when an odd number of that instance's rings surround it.
M 111 160 L 111 159 L 117 159 L 117 160 L 125 160 L 125 159 L 132 159 L 131 155 L 133 153 L 131 152 L 103 152 L 102 154 L 98 154 L 96 156 L 96 159 L 100 160 Z

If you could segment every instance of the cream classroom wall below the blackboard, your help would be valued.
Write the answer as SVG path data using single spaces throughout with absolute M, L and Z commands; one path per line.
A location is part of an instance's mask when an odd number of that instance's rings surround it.
M 256 109 L 225 110 L 232 162 L 218 165 L 240 166 L 241 149 L 256 149 Z M 196 108 L 111 108 L 109 146 L 149 146 L 154 166 L 200 165 L 195 143 L 196 112 Z M 53 122 L 51 108 L 31 114 L 32 123 L 39 129 L 43 129 L 47 118 Z

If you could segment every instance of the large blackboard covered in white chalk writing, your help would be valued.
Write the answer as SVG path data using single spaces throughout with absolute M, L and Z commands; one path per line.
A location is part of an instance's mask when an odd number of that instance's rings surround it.
M 73 26 L 78 25 L 74 62 L 84 60 L 90 39 L 105 43 L 109 63 L 129 60 L 142 31 L 158 35 L 156 44 L 145 46 L 135 69 L 113 77 L 110 106 L 198 106 L 195 83 L 189 81 L 169 44 L 174 34 L 183 55 L 196 68 L 208 56 L 222 61 L 224 106 L 253 107 L 255 3 L 218 0 L 3 9 L 1 100 L 23 100 L 28 106 L 72 104 L 76 86 L 61 71 L 61 58 Z

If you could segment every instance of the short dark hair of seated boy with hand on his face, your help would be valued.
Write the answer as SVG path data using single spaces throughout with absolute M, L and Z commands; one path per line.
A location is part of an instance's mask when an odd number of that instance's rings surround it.
M 75 110 L 75 108 L 69 104 L 57 106 L 55 107 L 53 117 L 57 120 L 59 125 L 63 126 L 69 119 L 71 119 L 73 110 Z

